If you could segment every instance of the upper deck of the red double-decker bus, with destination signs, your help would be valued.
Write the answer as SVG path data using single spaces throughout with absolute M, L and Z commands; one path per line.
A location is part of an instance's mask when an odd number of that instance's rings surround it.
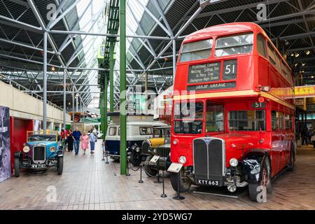
M 262 92 L 260 87 L 270 90 Z M 176 66 L 175 100 L 258 94 L 292 107 L 290 67 L 261 27 L 251 22 L 217 25 L 184 39 Z

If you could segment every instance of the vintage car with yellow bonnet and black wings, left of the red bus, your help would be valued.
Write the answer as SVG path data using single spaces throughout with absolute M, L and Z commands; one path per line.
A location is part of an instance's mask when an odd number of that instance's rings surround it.
M 158 169 L 167 170 L 171 165 L 171 127 L 157 127 L 153 130 L 153 139 L 142 144 L 142 155 L 146 156 L 144 170 L 148 176 L 156 176 Z M 160 156 L 157 162 L 150 162 L 154 155 Z

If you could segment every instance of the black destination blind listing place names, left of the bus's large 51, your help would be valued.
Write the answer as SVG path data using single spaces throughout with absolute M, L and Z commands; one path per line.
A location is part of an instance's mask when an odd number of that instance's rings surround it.
M 190 65 L 188 83 L 207 83 L 220 80 L 221 62 Z

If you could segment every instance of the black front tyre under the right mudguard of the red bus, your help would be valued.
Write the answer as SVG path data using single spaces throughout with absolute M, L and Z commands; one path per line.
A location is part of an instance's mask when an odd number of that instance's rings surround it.
M 260 202 L 260 200 L 258 200 L 258 195 L 261 195 L 260 193 L 262 190 L 260 189 L 262 186 L 265 186 L 268 194 L 272 193 L 271 167 L 268 158 L 262 163 L 262 171 L 260 175 L 260 182 L 248 184 L 249 197 L 251 197 L 253 202 Z M 258 189 L 258 187 L 260 187 L 260 189 Z

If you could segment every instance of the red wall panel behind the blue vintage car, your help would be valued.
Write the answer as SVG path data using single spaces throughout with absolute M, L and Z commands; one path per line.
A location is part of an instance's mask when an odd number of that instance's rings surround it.
M 27 141 L 27 131 L 32 131 L 33 127 L 33 120 L 10 117 L 11 170 L 14 167 L 14 153 L 22 151 L 23 144 Z

